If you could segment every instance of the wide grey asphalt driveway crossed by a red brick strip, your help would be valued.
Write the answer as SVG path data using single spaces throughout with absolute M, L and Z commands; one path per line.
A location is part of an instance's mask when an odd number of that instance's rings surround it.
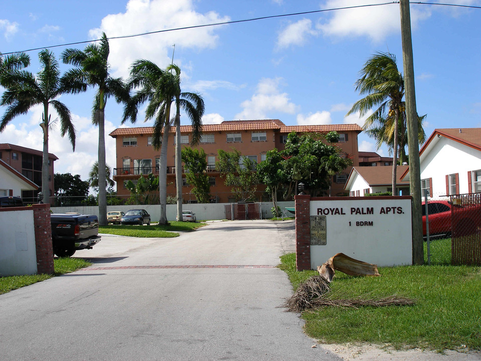
M 177 238 L 103 236 L 94 265 L 0 295 L 2 360 L 334 360 L 279 306 L 294 223 L 214 222 Z

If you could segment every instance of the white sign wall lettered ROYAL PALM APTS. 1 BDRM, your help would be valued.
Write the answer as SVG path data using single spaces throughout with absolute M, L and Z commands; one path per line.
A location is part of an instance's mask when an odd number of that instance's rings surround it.
M 312 269 L 337 253 L 378 266 L 412 264 L 410 198 L 311 201 L 310 215 Z M 325 244 L 313 242 L 312 216 L 326 217 Z

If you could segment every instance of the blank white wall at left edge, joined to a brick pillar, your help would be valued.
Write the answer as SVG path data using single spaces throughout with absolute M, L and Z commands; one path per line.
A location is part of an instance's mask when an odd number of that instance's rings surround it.
M 34 211 L 2 211 L 0 225 L 0 276 L 36 274 Z

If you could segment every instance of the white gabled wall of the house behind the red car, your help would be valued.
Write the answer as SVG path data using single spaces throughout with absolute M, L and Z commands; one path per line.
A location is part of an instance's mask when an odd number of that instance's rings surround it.
M 454 173 L 459 173 L 459 193 L 469 193 L 467 172 L 479 169 L 481 152 L 443 136 L 420 163 L 421 179 L 432 178 L 434 197 L 446 195 L 446 174 Z

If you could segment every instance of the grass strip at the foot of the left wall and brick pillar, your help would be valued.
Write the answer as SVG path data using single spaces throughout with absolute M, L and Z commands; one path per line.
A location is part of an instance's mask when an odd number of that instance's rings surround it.
M 64 273 L 74 272 L 80 268 L 88 267 L 92 263 L 82 258 L 57 258 L 54 259 L 55 275 L 40 274 L 27 276 L 0 277 L 0 294 L 10 292 L 14 289 L 28 286 L 37 282 L 45 281 L 53 276 L 60 276 Z

